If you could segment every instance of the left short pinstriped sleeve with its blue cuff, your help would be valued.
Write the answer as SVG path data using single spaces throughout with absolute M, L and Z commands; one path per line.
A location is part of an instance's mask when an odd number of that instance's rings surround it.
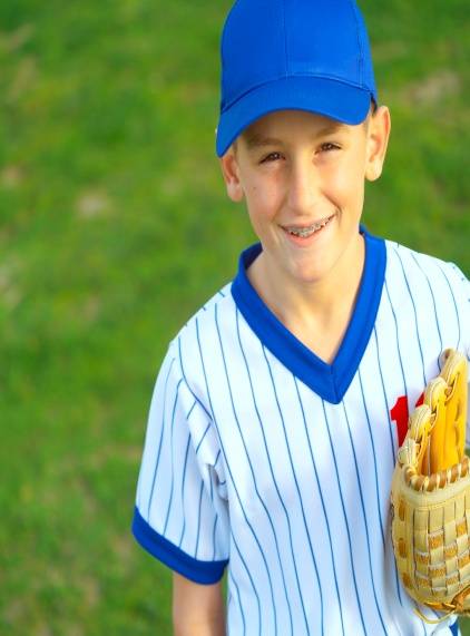
M 170 345 L 150 402 L 133 520 L 136 540 L 186 578 L 217 583 L 229 547 L 224 483 L 212 419 Z

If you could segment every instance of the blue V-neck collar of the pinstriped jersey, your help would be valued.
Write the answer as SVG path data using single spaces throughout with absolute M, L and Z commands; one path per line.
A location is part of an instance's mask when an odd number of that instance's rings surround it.
M 385 275 L 384 241 L 370 235 L 362 226 L 361 233 L 365 241 L 364 271 L 351 322 L 332 364 L 321 360 L 295 337 L 248 281 L 246 270 L 261 254 L 260 243 L 242 253 L 238 273 L 232 284 L 232 295 L 238 310 L 266 349 L 296 378 L 333 404 L 341 402 L 358 371 L 375 323 Z

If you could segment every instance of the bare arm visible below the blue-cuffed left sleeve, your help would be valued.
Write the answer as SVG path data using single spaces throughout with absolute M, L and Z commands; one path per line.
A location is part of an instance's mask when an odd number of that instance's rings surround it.
M 175 636 L 225 636 L 222 580 L 200 585 L 174 571 L 173 628 Z

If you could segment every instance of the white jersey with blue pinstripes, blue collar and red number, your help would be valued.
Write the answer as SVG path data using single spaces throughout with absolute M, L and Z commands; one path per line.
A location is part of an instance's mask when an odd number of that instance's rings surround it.
M 249 284 L 255 245 L 160 369 L 133 531 L 195 581 L 215 583 L 228 566 L 231 636 L 457 634 L 413 613 L 389 502 L 408 412 L 439 354 L 469 355 L 470 285 L 452 264 L 364 236 L 354 313 L 331 365 Z

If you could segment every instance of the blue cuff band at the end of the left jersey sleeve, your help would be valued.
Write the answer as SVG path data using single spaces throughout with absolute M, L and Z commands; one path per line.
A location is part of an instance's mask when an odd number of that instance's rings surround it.
M 199 561 L 190 557 L 156 532 L 140 515 L 137 507 L 134 510 L 133 535 L 147 552 L 195 583 L 210 585 L 224 576 L 228 560 Z

